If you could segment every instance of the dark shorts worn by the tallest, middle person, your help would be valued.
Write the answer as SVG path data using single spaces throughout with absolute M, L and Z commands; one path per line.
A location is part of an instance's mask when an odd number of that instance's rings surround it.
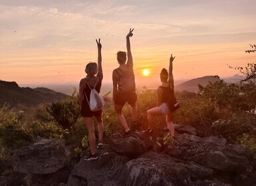
M 126 102 L 130 104 L 130 106 L 135 106 L 137 101 L 136 92 L 116 92 L 116 96 L 114 99 L 114 104 L 124 105 Z

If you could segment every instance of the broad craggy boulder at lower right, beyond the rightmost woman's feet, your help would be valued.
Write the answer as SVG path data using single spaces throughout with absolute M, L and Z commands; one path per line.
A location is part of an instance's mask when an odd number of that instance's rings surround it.
M 230 145 L 223 138 L 200 138 L 189 134 L 177 136 L 167 151 L 168 155 L 193 161 L 205 167 L 243 173 L 250 165 L 245 150 L 240 145 Z

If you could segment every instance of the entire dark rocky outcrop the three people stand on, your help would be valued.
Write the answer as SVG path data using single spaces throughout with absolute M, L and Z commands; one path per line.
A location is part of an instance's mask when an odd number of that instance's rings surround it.
M 177 126 L 176 126 L 177 127 Z M 178 126 L 175 140 L 160 139 L 132 132 L 112 136 L 98 160 L 83 158 L 70 169 L 70 151 L 63 140 L 38 139 L 22 147 L 15 155 L 7 185 L 119 186 L 254 186 L 255 162 L 241 145 L 231 145 L 223 138 L 200 138 L 189 126 Z M 178 131 L 178 130 L 177 130 Z M 166 141 L 166 143 L 164 143 Z M 80 157 L 84 157 L 85 151 Z

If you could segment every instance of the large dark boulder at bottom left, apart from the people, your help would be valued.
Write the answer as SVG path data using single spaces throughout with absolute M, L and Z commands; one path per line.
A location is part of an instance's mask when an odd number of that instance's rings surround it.
M 37 138 L 35 143 L 15 153 L 9 185 L 19 185 L 19 177 L 27 185 L 59 185 L 69 175 L 70 150 L 63 139 Z M 25 184 L 26 185 L 26 184 Z

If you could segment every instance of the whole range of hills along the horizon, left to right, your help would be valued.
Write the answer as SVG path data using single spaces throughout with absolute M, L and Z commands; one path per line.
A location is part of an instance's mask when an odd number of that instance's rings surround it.
M 225 82 L 237 82 L 241 80 L 242 76 L 235 75 L 230 78 L 223 78 Z M 200 78 L 194 78 L 175 86 L 175 90 L 186 90 L 188 92 L 198 92 L 198 84 L 206 86 L 209 82 L 216 82 L 221 80 L 219 76 L 203 76 Z M 51 89 L 49 89 L 51 88 Z M 78 87 L 77 87 L 78 88 Z M 151 87 L 150 87 L 151 88 Z M 53 90 L 52 90 L 53 89 Z M 112 84 L 102 84 L 101 94 L 106 94 L 112 90 Z M 77 89 L 76 89 L 77 90 Z M 57 91 L 57 92 L 56 92 Z M 61 93 L 64 92 L 64 93 Z M 72 94 L 74 92 L 74 86 L 71 85 L 56 85 L 48 86 L 48 88 L 29 88 L 20 87 L 16 82 L 7 82 L 0 80 L 0 106 L 7 104 L 10 108 L 14 106 L 36 106 L 38 104 L 51 104 L 54 101 L 67 98 L 66 93 Z M 112 95 L 112 94 L 110 94 Z

